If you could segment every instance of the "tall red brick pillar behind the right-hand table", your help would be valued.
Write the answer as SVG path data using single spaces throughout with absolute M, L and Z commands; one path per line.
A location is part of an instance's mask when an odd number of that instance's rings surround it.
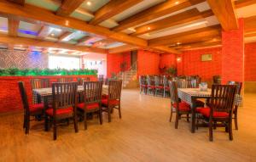
M 239 29 L 222 31 L 222 83 L 244 82 L 244 22 L 238 20 Z

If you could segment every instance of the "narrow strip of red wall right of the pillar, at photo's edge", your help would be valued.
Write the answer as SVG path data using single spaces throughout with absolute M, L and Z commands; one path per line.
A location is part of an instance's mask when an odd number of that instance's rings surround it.
M 256 42 L 245 45 L 245 81 L 256 81 Z

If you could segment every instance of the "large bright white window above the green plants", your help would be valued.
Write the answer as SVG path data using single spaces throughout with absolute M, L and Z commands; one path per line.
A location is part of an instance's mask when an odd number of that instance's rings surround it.
M 78 57 L 49 55 L 49 69 L 79 70 L 80 59 Z

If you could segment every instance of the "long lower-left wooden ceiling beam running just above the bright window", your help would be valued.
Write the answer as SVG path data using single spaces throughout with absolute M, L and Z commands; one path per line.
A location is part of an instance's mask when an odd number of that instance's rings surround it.
M 96 47 L 84 47 L 84 46 L 75 46 L 72 44 L 67 44 L 63 42 L 50 42 L 44 40 L 37 40 L 27 37 L 19 37 L 19 36 L 7 36 L 0 34 L 0 42 L 7 42 L 9 44 L 19 44 L 26 46 L 35 46 L 35 47 L 55 47 L 55 48 L 63 48 L 69 50 L 77 50 L 82 52 L 90 52 L 90 53 L 107 53 L 108 50 L 104 50 Z

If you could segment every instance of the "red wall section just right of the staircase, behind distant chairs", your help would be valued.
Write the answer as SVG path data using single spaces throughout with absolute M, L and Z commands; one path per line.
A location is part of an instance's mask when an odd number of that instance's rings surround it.
M 159 75 L 160 54 L 144 50 L 137 52 L 137 75 Z

